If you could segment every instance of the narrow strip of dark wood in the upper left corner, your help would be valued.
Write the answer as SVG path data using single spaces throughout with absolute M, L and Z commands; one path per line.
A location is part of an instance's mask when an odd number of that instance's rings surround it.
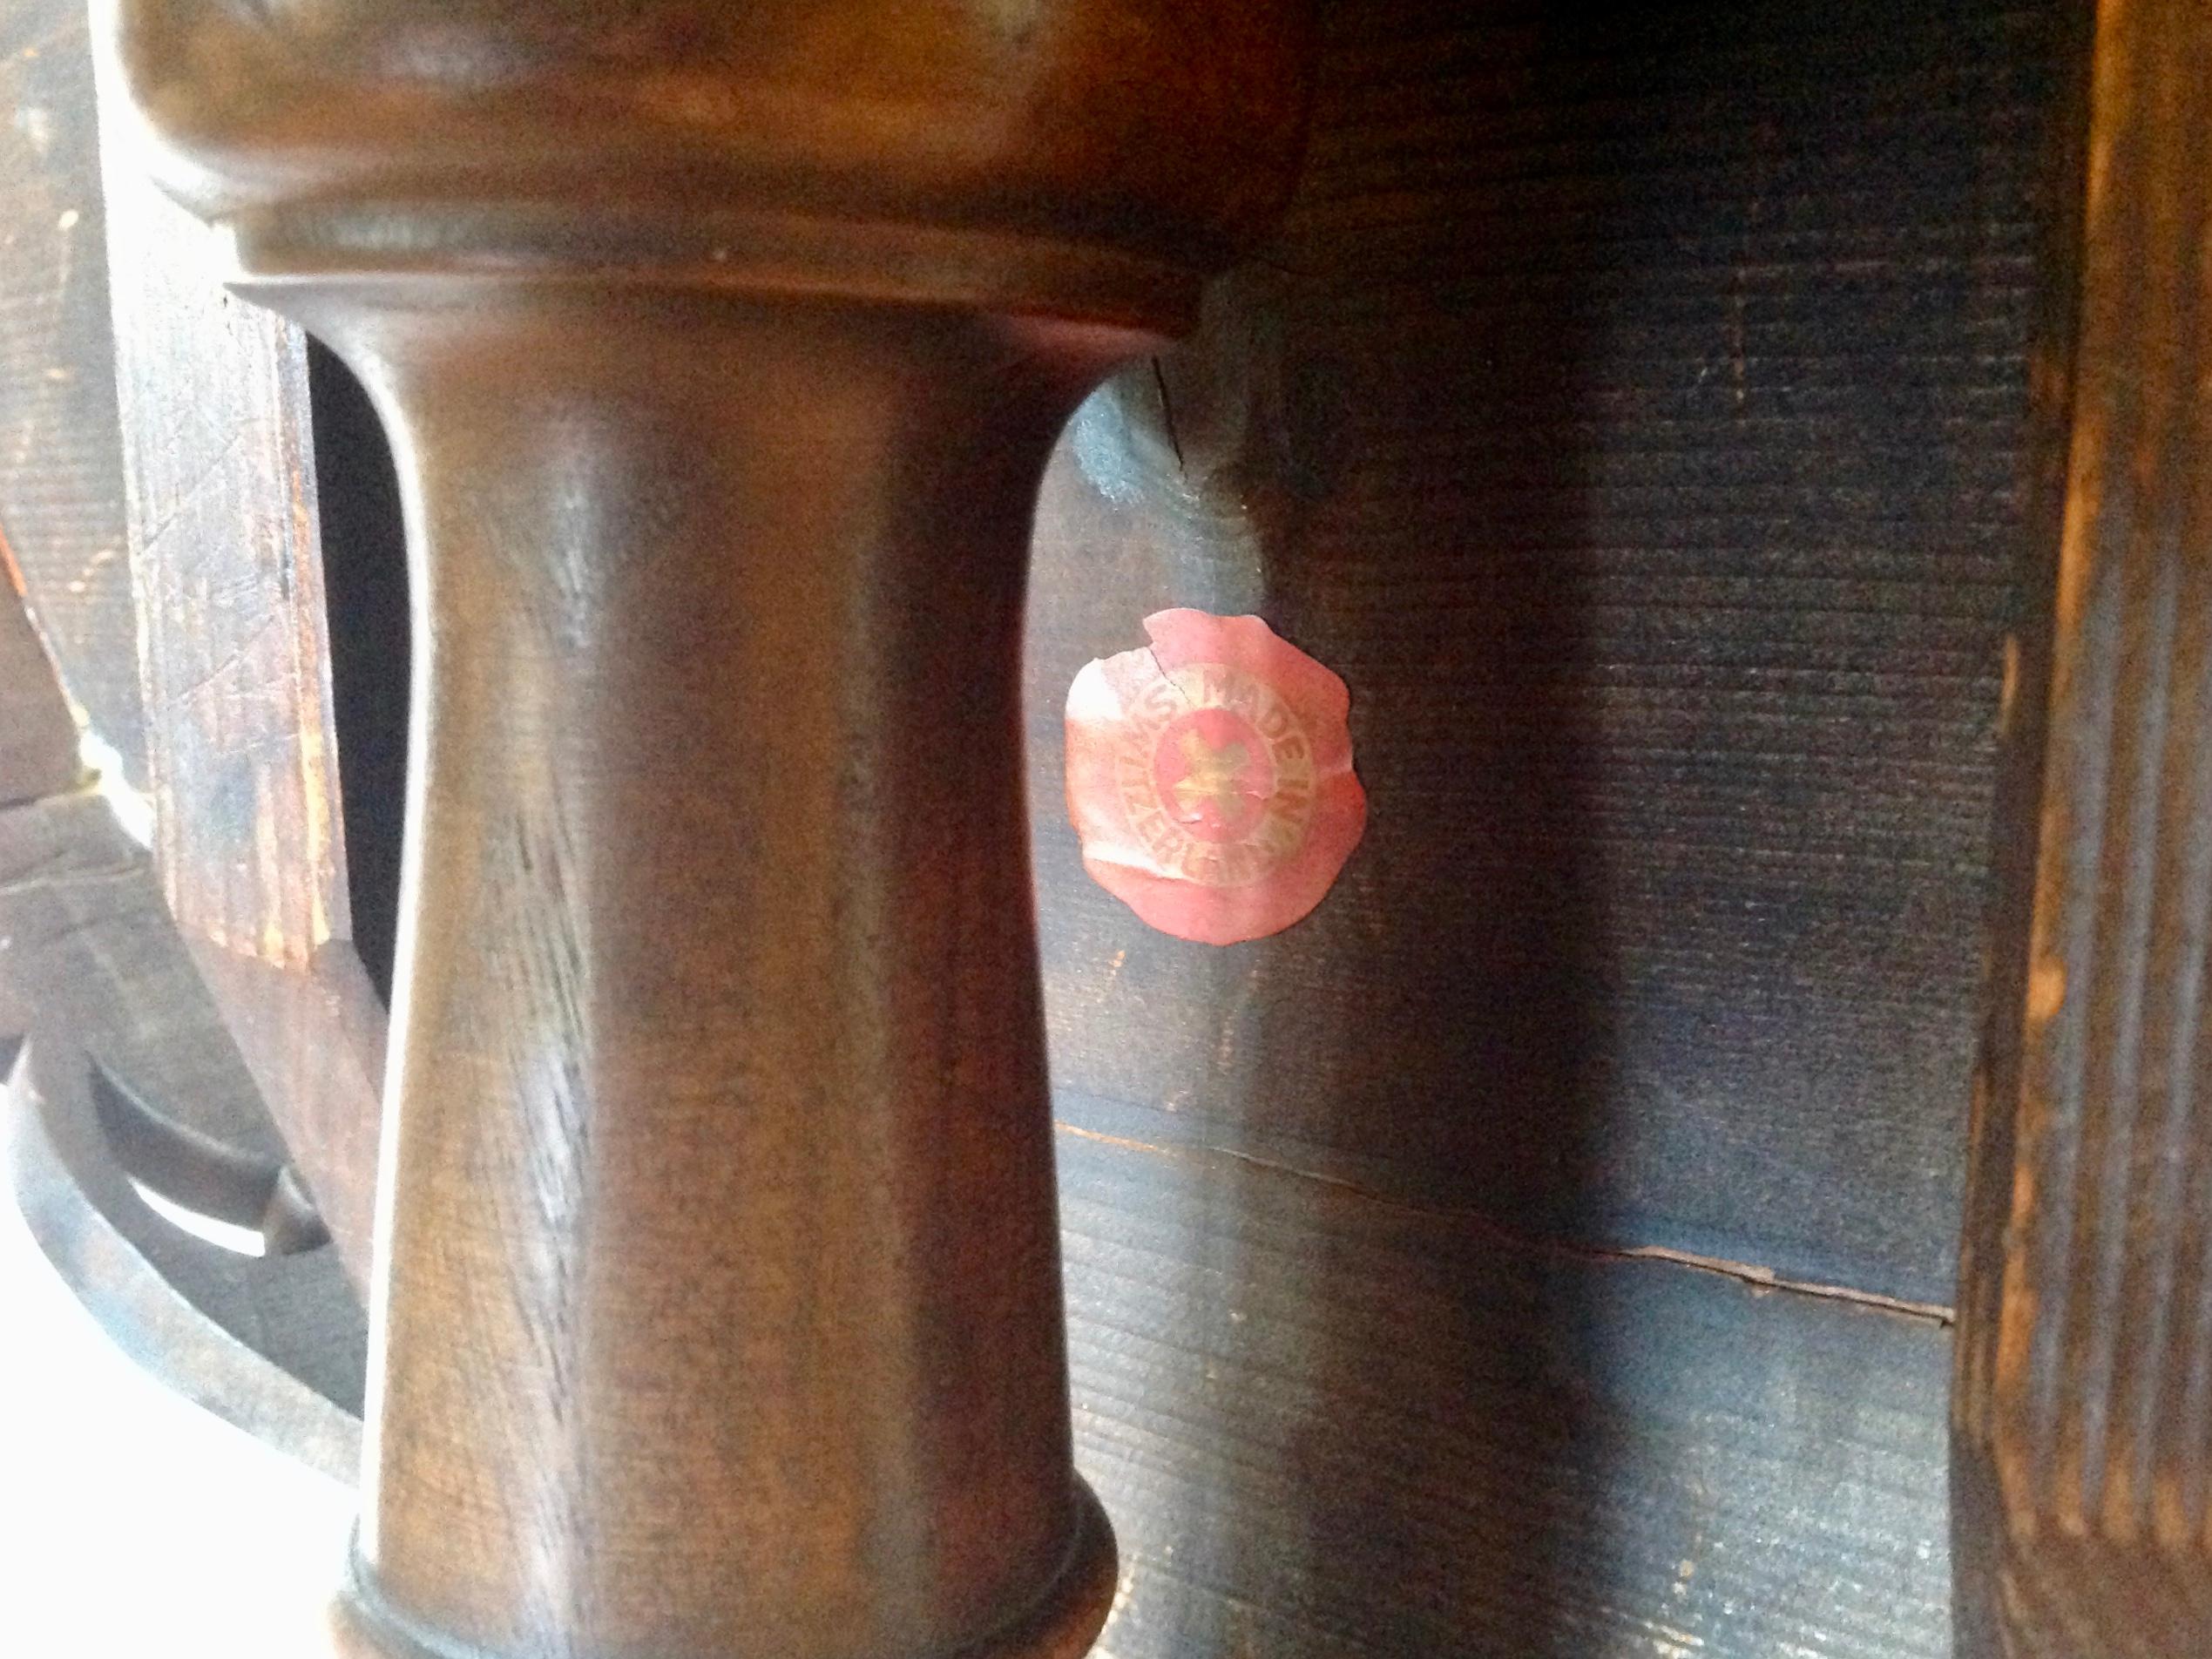
M 144 787 L 82 0 L 0 7 L 0 542 L 86 726 Z

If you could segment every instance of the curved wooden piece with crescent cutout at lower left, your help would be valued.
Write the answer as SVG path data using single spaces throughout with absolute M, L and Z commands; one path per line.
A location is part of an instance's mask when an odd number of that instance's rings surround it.
M 146 852 L 93 794 L 0 812 L 0 1002 L 29 1040 L 7 1139 L 40 1245 L 148 1369 L 332 1469 L 361 1411 L 361 1303 Z M 190 1234 L 148 1192 L 259 1234 L 261 1254 Z

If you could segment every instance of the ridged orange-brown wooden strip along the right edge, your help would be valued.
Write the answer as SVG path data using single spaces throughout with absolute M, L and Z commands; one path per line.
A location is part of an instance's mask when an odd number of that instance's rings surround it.
M 2101 4 L 1955 1400 L 1971 1659 L 2212 1648 L 2212 18 Z

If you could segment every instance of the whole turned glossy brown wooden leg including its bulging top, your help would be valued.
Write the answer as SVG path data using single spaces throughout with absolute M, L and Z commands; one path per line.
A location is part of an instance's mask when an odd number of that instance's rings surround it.
M 115 0 L 394 438 L 347 1652 L 1082 1652 L 1020 783 L 1046 451 L 1287 192 L 1276 0 Z

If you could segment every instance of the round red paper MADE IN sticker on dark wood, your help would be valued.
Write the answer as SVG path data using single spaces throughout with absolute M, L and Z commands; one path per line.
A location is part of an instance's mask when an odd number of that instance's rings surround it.
M 1084 869 L 1177 938 L 1281 933 L 1367 825 L 1345 681 L 1259 617 L 1159 611 L 1144 630 L 1068 686 Z

